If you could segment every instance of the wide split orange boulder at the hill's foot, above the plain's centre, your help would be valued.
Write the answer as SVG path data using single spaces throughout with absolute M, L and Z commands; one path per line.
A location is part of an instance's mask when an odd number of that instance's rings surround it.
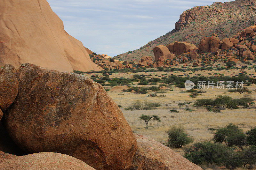
M 173 42 L 166 46 L 169 51 L 175 55 L 184 54 L 187 52 L 192 52 L 196 49 L 194 44 L 190 44 L 187 42 Z

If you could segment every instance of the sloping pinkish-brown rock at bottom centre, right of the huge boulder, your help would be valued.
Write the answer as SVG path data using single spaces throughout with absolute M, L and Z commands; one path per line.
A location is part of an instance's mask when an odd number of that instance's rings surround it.
M 138 149 L 131 170 L 203 170 L 150 137 L 135 134 Z

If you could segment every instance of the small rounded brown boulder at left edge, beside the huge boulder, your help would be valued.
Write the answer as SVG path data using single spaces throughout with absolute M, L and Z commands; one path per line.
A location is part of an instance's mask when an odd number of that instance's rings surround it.
M 0 108 L 6 110 L 18 94 L 19 82 L 16 70 L 12 65 L 6 64 L 0 70 Z

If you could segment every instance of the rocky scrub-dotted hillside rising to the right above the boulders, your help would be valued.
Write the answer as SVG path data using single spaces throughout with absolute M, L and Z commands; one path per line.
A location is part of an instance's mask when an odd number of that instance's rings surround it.
M 175 29 L 148 42 L 140 49 L 115 56 L 119 60 L 139 61 L 142 56 L 154 56 L 153 48 L 184 41 L 199 45 L 202 38 L 217 33 L 220 39 L 232 37 L 240 30 L 256 23 L 256 1 L 236 0 L 228 3 L 213 3 L 184 11 Z

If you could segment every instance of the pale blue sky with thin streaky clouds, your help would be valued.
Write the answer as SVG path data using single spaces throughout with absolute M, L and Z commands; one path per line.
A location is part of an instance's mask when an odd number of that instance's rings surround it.
M 180 14 L 213 0 L 48 0 L 65 30 L 97 54 L 119 55 L 172 31 Z M 230 2 L 228 0 L 217 2 Z

